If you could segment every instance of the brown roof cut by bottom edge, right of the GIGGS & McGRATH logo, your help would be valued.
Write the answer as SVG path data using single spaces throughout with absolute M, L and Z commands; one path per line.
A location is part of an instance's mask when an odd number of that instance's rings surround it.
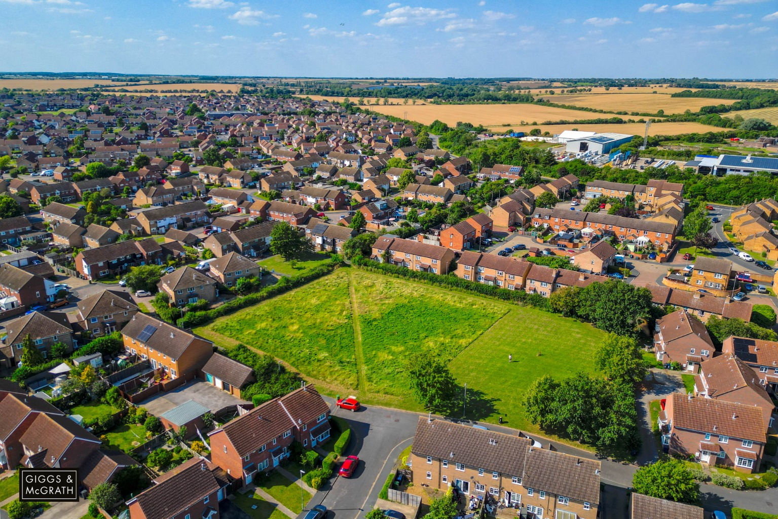
M 170 519 L 219 490 L 219 482 L 211 471 L 212 465 L 205 459 L 192 458 L 175 472 L 170 471 L 172 475 L 167 472 L 157 478 L 156 485 L 128 503 L 137 501 L 145 519 Z M 218 503 L 214 504 L 218 506 Z

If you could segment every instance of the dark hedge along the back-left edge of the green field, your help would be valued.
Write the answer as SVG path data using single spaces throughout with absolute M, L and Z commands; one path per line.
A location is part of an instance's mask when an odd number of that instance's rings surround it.
M 181 317 L 176 321 L 178 328 L 194 328 L 195 326 L 202 326 L 211 321 L 223 317 L 227 314 L 240 310 L 245 307 L 251 307 L 251 305 L 261 303 L 264 300 L 268 300 L 271 297 L 278 296 L 279 294 L 289 292 L 291 289 L 296 289 L 298 286 L 303 286 L 308 282 L 319 279 L 323 275 L 331 274 L 341 265 L 340 261 L 331 261 L 324 265 L 318 265 L 311 268 L 308 272 L 292 277 L 282 277 L 275 285 L 267 286 L 261 289 L 259 292 L 248 294 L 247 296 L 237 297 L 228 303 L 224 303 L 220 307 L 216 307 L 212 310 L 201 310 L 195 312 L 187 312 L 184 317 Z

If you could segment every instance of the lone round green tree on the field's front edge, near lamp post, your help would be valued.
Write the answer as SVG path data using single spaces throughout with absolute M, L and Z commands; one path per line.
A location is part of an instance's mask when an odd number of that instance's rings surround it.
M 408 363 L 411 389 L 416 400 L 429 410 L 447 409 L 457 390 L 447 363 L 433 352 L 419 352 Z

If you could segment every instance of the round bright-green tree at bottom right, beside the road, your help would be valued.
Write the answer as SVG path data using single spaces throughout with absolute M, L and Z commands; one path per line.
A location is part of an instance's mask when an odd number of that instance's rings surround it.
M 657 461 L 633 474 L 635 492 L 678 503 L 699 501 L 699 483 L 680 460 Z

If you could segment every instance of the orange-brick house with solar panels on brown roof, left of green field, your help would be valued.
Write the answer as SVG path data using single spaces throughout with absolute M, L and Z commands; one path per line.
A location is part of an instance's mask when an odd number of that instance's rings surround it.
M 121 330 L 124 349 L 171 379 L 195 377 L 213 354 L 213 343 L 146 314 L 135 314 Z

